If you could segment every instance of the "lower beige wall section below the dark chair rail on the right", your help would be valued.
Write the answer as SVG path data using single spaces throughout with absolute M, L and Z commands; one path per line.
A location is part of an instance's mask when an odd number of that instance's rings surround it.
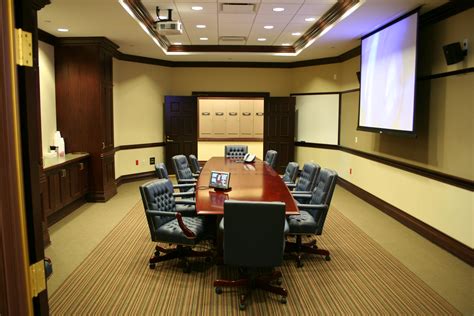
M 474 246 L 473 194 L 339 150 L 297 147 L 297 162 L 316 161 L 340 177 L 461 243 Z M 349 169 L 352 168 L 352 175 Z

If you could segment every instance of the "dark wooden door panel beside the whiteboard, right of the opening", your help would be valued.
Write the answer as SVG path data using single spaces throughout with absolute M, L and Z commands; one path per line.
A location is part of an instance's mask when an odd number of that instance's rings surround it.
M 283 173 L 288 162 L 294 160 L 295 98 L 268 97 L 264 105 L 264 153 L 278 152 L 276 170 Z

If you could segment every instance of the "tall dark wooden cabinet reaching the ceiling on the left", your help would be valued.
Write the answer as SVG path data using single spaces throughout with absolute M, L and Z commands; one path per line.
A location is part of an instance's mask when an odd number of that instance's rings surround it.
M 55 47 L 56 113 L 66 151 L 90 153 L 89 199 L 117 193 L 114 169 L 112 56 L 106 38 L 63 38 Z

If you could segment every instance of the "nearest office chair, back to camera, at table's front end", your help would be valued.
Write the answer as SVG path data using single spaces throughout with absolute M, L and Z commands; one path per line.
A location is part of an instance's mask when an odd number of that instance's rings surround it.
M 240 309 L 245 308 L 252 288 L 281 295 L 281 302 L 286 303 L 288 292 L 271 284 L 281 284 L 282 274 L 273 267 L 283 262 L 285 226 L 284 203 L 225 201 L 220 224 L 224 231 L 224 263 L 240 267 L 242 278 L 214 281 L 216 293 L 222 293 L 222 287 L 245 287 L 247 292 L 240 297 Z M 269 268 L 270 272 L 256 276 L 257 268 Z M 253 273 L 249 269 L 254 269 Z

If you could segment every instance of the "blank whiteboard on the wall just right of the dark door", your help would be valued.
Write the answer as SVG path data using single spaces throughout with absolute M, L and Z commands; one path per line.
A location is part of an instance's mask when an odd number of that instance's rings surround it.
M 337 145 L 339 94 L 296 96 L 296 141 Z

